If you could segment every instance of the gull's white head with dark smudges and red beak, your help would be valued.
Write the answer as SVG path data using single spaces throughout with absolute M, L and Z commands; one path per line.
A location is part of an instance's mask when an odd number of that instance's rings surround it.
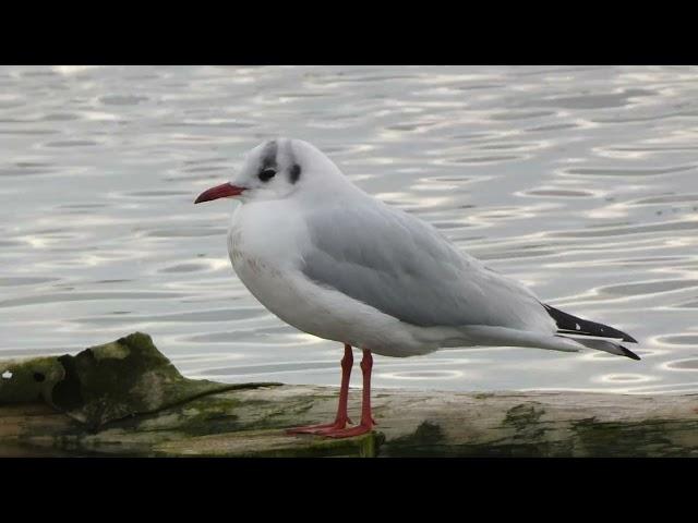
M 204 191 L 194 202 L 238 198 L 241 202 L 284 199 L 296 194 L 328 194 L 348 184 L 335 163 L 302 139 L 277 138 L 248 151 L 229 183 Z

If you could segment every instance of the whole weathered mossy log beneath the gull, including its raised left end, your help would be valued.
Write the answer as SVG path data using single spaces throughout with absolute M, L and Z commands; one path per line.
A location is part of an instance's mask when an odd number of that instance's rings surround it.
M 332 419 L 336 401 L 334 388 L 184 378 L 135 333 L 0 362 L 0 455 L 698 455 L 697 396 L 376 390 L 371 435 L 286 435 Z

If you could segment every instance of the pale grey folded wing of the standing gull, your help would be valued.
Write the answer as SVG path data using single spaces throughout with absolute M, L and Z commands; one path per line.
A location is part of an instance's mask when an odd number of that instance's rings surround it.
M 309 217 L 303 273 L 421 327 L 554 331 L 535 296 L 461 253 L 432 226 L 377 200 Z

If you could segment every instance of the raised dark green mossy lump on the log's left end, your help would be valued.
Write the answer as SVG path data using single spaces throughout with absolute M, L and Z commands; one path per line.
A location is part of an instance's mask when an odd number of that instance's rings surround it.
M 4 367 L 11 377 L 0 382 L 0 404 L 33 401 L 40 396 L 92 428 L 239 387 L 183 377 L 151 337 L 141 332 L 74 356 L 31 360 Z M 37 380 L 37 376 L 43 379 Z

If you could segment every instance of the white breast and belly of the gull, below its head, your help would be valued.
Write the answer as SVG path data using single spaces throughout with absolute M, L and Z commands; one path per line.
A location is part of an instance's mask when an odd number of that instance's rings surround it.
M 413 329 L 338 291 L 310 281 L 302 254 L 310 242 L 302 212 L 285 202 L 249 203 L 233 215 L 228 252 L 248 290 L 289 325 L 320 338 L 407 356 L 435 350 Z

